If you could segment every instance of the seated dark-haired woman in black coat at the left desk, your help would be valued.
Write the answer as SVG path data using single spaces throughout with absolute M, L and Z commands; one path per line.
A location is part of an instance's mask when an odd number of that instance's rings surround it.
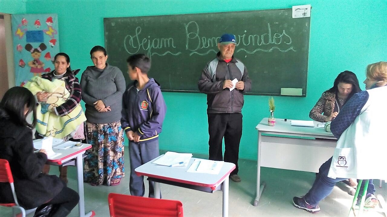
M 26 116 L 33 112 L 33 123 Z M 25 209 L 38 207 L 34 217 L 65 217 L 78 204 L 77 192 L 55 175 L 41 173 L 46 151 L 34 153 L 32 128 L 36 102 L 24 87 L 12 87 L 0 102 L 0 158 L 9 161 L 17 199 Z M 0 183 L 0 202 L 14 202 L 8 183 Z

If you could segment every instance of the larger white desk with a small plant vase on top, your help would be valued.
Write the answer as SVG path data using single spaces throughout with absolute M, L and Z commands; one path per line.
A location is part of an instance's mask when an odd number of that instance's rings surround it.
M 260 184 L 261 167 L 319 172 L 320 166 L 333 156 L 337 139 L 332 133 L 324 128 L 291 126 L 290 121 L 276 118 L 276 125 L 269 126 L 264 118 L 255 127 L 258 130 L 258 157 L 254 206 L 258 205 L 265 187 L 264 182 Z

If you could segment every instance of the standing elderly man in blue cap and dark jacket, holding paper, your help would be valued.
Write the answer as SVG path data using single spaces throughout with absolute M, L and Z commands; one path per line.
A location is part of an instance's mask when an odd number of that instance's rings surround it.
M 222 35 L 217 44 L 219 52 L 204 67 L 198 86 L 202 93 L 207 94 L 209 159 L 223 160 L 224 137 L 224 161 L 236 165 L 230 178 L 240 182 L 238 155 L 242 136 L 241 109 L 243 94 L 250 91 L 251 80 L 245 65 L 233 56 L 235 46 L 234 35 Z

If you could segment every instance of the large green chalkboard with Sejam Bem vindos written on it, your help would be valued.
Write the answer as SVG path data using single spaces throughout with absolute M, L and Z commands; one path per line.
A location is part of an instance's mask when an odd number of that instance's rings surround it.
M 147 54 L 149 76 L 163 91 L 197 92 L 205 64 L 216 57 L 224 33 L 235 34 L 234 57 L 247 67 L 251 93 L 279 95 L 281 87 L 307 91 L 310 17 L 291 9 L 104 18 L 108 62 L 128 81 L 128 56 Z

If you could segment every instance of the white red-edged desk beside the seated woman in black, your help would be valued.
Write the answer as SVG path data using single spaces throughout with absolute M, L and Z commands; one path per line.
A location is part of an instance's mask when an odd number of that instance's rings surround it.
M 90 144 L 82 144 L 79 148 L 57 149 L 53 147 L 55 153 L 62 153 L 61 155 L 47 160 L 51 165 L 57 166 L 76 166 L 78 176 L 78 194 L 79 194 L 79 217 L 92 217 L 95 215 L 94 211 L 85 214 L 85 195 L 83 189 L 83 158 L 82 155 L 86 150 L 90 149 Z

